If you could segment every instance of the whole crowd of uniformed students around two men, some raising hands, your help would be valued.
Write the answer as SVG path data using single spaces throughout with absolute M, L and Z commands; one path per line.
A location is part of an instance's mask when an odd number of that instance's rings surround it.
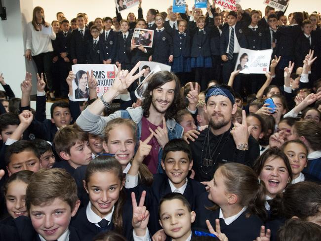
M 144 20 L 141 4 L 138 19 L 117 12 L 90 30 L 84 13 L 70 31 L 59 12 L 52 35 L 34 9 L 36 109 L 30 73 L 21 98 L 0 76 L 0 240 L 320 240 L 320 16 L 294 12 L 287 25 L 269 6 L 261 18 L 213 3 L 205 16 L 169 7 Z M 134 28 L 155 30 L 151 49 L 130 45 Z M 273 48 L 270 71 L 233 71 L 240 46 Z M 150 71 L 141 60 L 172 71 L 136 99 Z M 77 63 L 117 64 L 113 86 L 98 98 L 93 72 L 81 73 L 89 96 L 75 102 Z M 69 102 L 54 102 L 49 120 L 57 83 Z

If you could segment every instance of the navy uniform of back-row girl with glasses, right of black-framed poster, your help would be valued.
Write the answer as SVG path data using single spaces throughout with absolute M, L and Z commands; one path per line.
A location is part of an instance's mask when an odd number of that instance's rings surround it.
M 153 58 L 154 62 L 171 65 L 168 58 L 173 55 L 173 38 L 165 31 L 165 28 L 156 29 L 153 40 Z

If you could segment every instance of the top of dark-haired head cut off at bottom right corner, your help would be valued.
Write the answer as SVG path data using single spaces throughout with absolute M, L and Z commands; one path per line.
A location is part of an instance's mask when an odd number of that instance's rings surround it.
M 277 237 L 278 241 L 320 241 L 321 226 L 293 218 L 278 230 Z

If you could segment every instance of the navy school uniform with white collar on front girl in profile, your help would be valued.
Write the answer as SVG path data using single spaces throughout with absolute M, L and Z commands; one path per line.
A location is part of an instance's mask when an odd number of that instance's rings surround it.
M 196 220 L 193 227 L 207 230 L 206 219 L 214 227 L 215 219 L 219 219 L 221 232 L 229 238 L 229 241 L 255 240 L 260 236 L 261 226 L 264 225 L 263 221 L 254 214 L 246 217 L 248 211 L 245 207 L 237 215 L 224 219 L 219 207 L 214 211 L 206 209 L 206 207 L 213 205 L 214 202 L 208 200 L 208 193 L 201 194 L 197 202 Z

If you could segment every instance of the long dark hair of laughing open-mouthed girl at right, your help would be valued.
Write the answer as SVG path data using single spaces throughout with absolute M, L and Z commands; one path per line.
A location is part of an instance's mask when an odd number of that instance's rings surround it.
M 261 156 L 259 156 L 254 162 L 253 169 L 257 176 L 260 176 L 261 171 L 264 168 L 264 164 L 267 160 L 274 160 L 275 158 L 281 158 L 285 164 L 287 172 L 289 174 L 289 182 L 292 181 L 292 169 L 287 156 L 281 151 L 279 147 L 270 147 Z

